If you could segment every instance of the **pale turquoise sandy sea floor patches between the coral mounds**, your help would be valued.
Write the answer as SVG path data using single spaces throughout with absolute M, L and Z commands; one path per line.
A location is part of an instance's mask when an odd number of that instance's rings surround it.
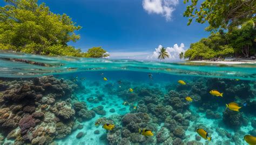
M 84 82 L 84 85 L 86 85 L 87 83 Z M 147 85 L 147 84 L 145 84 Z M 159 85 L 159 87 L 161 88 L 161 84 L 157 84 Z M 163 84 L 163 86 L 165 86 L 166 84 Z M 142 84 L 143 86 L 143 84 Z M 102 88 L 103 84 L 101 84 L 100 86 L 98 86 L 97 88 Z M 104 106 L 104 110 L 106 111 L 105 115 L 98 115 L 96 114 L 96 117 L 89 120 L 89 121 L 84 121 L 80 124 L 84 125 L 83 129 L 77 129 L 76 131 L 73 131 L 69 136 L 65 137 L 64 139 L 60 139 L 57 140 L 56 143 L 58 144 L 90 144 L 90 145 L 98 145 L 98 144 L 108 144 L 107 140 L 106 140 L 106 133 L 107 131 L 102 128 L 102 126 L 95 126 L 95 122 L 97 119 L 101 118 L 101 117 L 110 117 L 111 115 L 125 115 L 126 113 L 130 112 L 130 107 L 129 106 L 124 106 L 122 105 L 124 100 L 120 99 L 118 96 L 116 95 L 109 95 L 106 92 L 104 92 L 103 89 L 97 89 L 95 86 L 86 86 L 87 90 L 90 90 L 89 93 L 78 93 L 77 97 L 79 99 L 79 101 L 85 101 L 88 109 L 90 110 L 93 107 L 97 107 L 99 105 Z M 162 87 L 164 88 L 164 87 Z M 96 95 L 97 92 L 99 92 L 100 94 L 104 94 L 104 100 L 100 101 L 98 103 L 90 103 L 88 102 L 86 99 L 89 97 L 92 97 L 93 95 Z M 110 109 L 114 108 L 115 112 L 111 113 Z M 218 111 L 221 113 L 223 112 L 223 110 L 225 109 L 225 106 L 223 106 L 223 108 L 220 108 Z M 184 142 L 188 142 L 188 141 L 194 141 L 196 140 L 196 136 L 198 136 L 197 132 L 194 130 L 194 126 L 197 125 L 204 125 L 207 128 L 209 128 L 211 130 L 212 133 L 210 133 L 210 136 L 212 137 L 212 141 L 207 141 L 204 140 L 203 138 L 200 139 L 199 142 L 204 143 L 204 144 L 221 144 L 220 141 L 224 142 L 224 144 L 230 144 L 233 145 L 235 144 L 234 142 L 228 142 L 228 139 L 226 136 L 221 136 L 219 135 L 219 133 L 216 131 L 216 128 L 221 128 L 221 122 L 222 122 L 222 118 L 220 119 L 207 119 L 206 118 L 206 114 L 205 113 L 200 113 L 197 112 L 198 108 L 194 107 L 193 105 L 190 105 L 190 110 L 192 112 L 192 115 L 198 115 L 198 119 L 196 121 L 190 121 L 190 126 L 188 127 L 187 131 L 185 132 L 185 139 L 183 140 Z M 221 113 L 222 114 L 222 113 Z M 163 126 L 163 124 L 159 125 L 157 128 L 160 129 L 161 126 Z M 223 128 L 222 128 L 223 129 Z M 248 133 L 249 131 L 251 131 L 252 129 L 254 129 L 251 126 L 251 123 L 248 123 L 248 126 L 242 126 L 240 128 L 240 137 L 238 137 L 237 139 L 234 140 L 239 140 L 239 141 L 235 141 L 235 142 L 240 142 L 239 144 L 247 144 L 244 140 L 243 140 L 243 136 Z M 95 131 L 98 130 L 99 134 L 95 134 Z M 225 130 L 231 134 L 231 136 L 235 135 L 235 132 L 233 129 L 227 129 L 225 128 Z M 79 132 L 84 132 L 85 136 L 82 137 L 81 139 L 77 139 L 76 135 Z M 100 139 L 101 137 L 103 139 Z M 225 141 L 227 141 L 225 143 Z M 237 145 L 237 144 L 235 144 Z

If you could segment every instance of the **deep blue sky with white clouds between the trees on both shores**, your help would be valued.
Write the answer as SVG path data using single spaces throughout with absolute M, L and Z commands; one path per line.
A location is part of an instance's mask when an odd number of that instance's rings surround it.
M 76 32 L 80 40 L 69 45 L 83 52 L 102 46 L 110 58 L 156 59 L 164 46 L 170 60 L 176 60 L 191 43 L 208 36 L 206 24 L 187 26 L 183 0 L 38 0 L 42 2 L 83 27 Z

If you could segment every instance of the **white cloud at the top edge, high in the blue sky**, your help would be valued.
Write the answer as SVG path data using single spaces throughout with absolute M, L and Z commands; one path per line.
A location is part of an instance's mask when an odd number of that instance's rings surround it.
M 148 13 L 157 13 L 165 17 L 167 21 L 171 20 L 172 12 L 179 0 L 143 0 L 143 9 Z

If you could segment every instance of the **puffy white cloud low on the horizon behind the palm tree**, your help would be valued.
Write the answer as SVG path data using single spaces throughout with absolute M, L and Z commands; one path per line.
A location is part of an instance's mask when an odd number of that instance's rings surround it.
M 157 48 L 155 48 L 156 50 L 153 52 L 150 59 L 157 59 L 157 57 L 159 56 L 160 49 L 162 47 L 163 46 L 159 45 Z M 166 58 L 166 60 L 179 60 L 179 54 L 181 52 L 185 52 L 184 48 L 185 46 L 183 43 L 181 43 L 180 46 L 175 44 L 173 47 L 166 47 L 166 52 L 169 55 L 169 58 Z

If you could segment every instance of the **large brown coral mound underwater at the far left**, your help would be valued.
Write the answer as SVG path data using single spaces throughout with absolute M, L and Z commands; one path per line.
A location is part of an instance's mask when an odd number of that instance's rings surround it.
M 78 100 L 72 95 L 78 86 L 69 80 L 47 76 L 6 85 L 0 95 L 0 133 L 14 144 L 50 144 L 70 134 L 87 112 L 86 119 L 95 116 L 86 104 L 72 102 Z

